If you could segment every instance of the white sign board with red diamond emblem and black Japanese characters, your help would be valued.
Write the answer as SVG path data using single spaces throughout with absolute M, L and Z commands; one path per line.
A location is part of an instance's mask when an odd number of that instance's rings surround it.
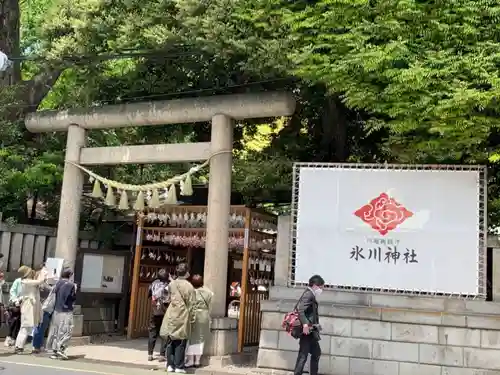
M 479 293 L 478 170 L 301 166 L 297 176 L 295 282 Z

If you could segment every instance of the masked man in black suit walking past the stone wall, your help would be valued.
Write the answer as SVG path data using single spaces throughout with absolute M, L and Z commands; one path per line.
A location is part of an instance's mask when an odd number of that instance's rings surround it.
M 316 297 L 323 291 L 325 280 L 319 275 L 314 275 L 309 279 L 309 286 L 300 297 L 297 304 L 297 312 L 301 324 L 299 337 L 299 354 L 295 363 L 294 375 L 302 375 L 307 357 L 311 355 L 309 366 L 310 375 L 318 375 L 319 357 L 321 347 L 319 345 L 319 325 L 318 302 Z

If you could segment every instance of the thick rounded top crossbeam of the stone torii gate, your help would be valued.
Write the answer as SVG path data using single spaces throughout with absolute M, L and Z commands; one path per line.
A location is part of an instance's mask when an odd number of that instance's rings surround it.
M 235 120 L 290 116 L 294 110 L 295 100 L 290 93 L 263 92 L 36 112 L 28 115 L 25 123 L 29 131 L 43 133 L 67 131 L 70 124 L 85 129 L 113 129 L 205 122 L 217 114 Z

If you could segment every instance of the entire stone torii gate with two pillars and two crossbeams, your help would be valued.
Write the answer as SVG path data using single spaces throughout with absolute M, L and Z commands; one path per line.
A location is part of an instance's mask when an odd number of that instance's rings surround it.
M 205 281 L 214 292 L 213 316 L 226 313 L 228 242 L 234 120 L 290 116 L 295 100 L 289 93 L 220 95 L 147 103 L 47 111 L 31 114 L 26 128 L 35 133 L 66 131 L 65 160 L 80 165 L 117 165 L 205 161 L 210 158 Z M 205 143 L 121 147 L 85 147 L 86 131 L 211 121 Z M 83 187 L 82 171 L 65 163 L 56 257 L 74 266 Z

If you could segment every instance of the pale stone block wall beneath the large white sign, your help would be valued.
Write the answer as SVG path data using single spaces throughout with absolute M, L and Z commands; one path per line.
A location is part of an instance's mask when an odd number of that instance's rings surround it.
M 301 290 L 262 302 L 257 365 L 292 370 L 298 341 L 281 329 Z M 500 303 L 324 292 L 320 373 L 500 375 Z

